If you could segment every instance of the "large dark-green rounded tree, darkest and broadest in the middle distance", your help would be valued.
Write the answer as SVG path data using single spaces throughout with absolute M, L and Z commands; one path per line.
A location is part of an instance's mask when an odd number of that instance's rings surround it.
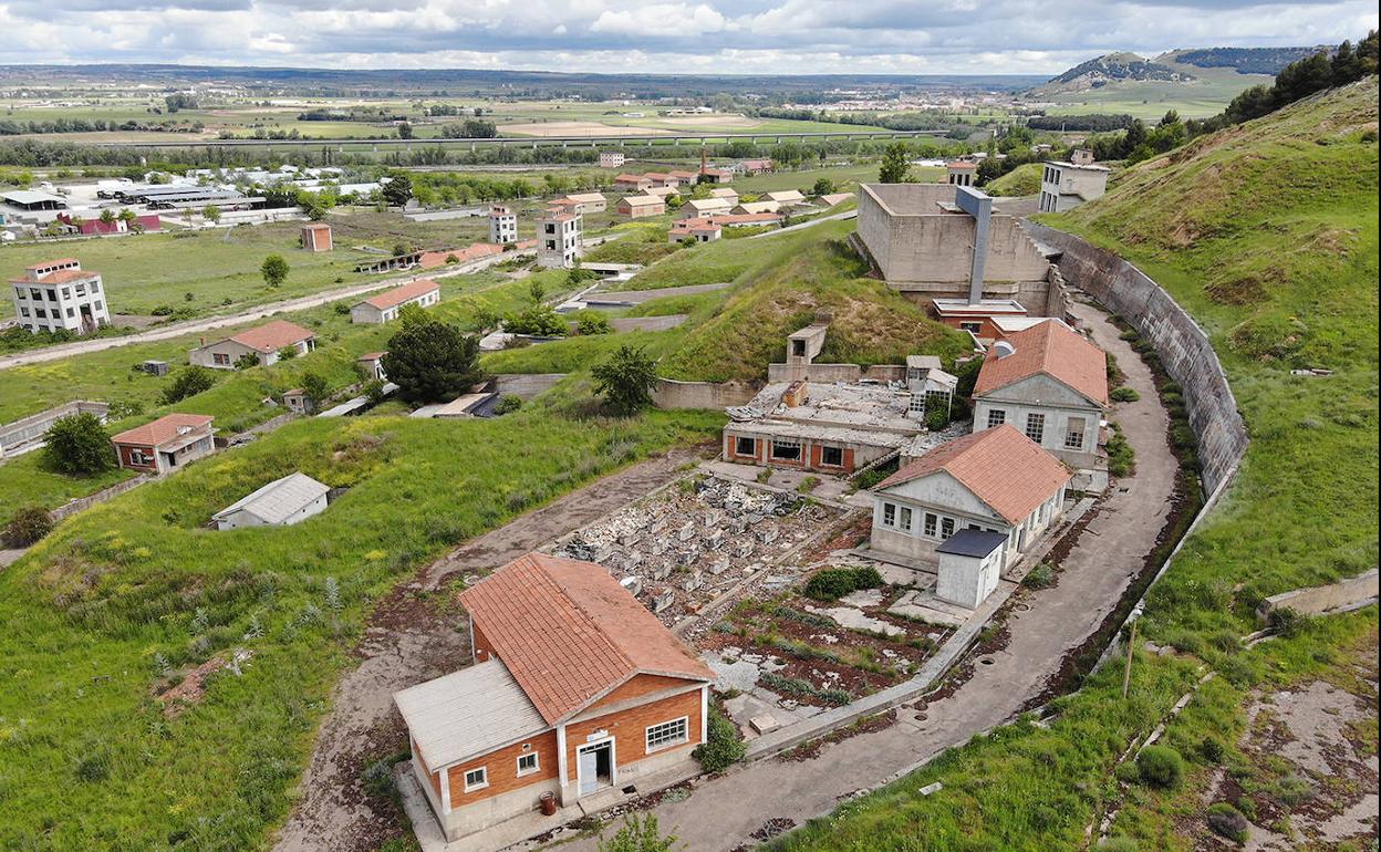
M 388 340 L 384 371 L 409 402 L 443 402 L 482 378 L 479 338 L 427 320 L 403 326 Z

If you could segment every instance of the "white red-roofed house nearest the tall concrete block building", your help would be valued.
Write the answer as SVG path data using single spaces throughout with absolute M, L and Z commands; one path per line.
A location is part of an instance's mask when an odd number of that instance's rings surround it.
M 1061 322 L 997 341 L 974 385 L 974 431 L 1011 424 L 1076 468 L 1098 461 L 1108 356 Z

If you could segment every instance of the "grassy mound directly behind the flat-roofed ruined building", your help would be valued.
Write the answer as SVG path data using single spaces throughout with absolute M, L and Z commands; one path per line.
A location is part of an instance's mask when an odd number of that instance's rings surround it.
M 751 265 L 724 307 L 689 330 L 663 360 L 663 376 L 765 380 L 768 363 L 786 356 L 786 336 L 809 325 L 818 312 L 833 315 L 820 362 L 899 363 L 916 352 L 949 360 L 963 354 L 963 336 L 932 322 L 884 283 L 863 278 L 863 261 L 844 243 L 852 228 L 852 222 L 830 222 L 780 238 L 725 243 L 724 254 Z

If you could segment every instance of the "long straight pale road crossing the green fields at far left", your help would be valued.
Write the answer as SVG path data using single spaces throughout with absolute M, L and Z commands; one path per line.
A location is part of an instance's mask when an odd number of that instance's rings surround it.
M 59 358 L 70 358 L 73 355 L 86 355 L 87 352 L 101 352 L 105 349 L 115 349 L 117 347 L 128 347 L 133 344 L 146 344 L 159 340 L 173 340 L 175 337 L 196 334 L 197 331 L 210 331 L 213 329 L 224 329 L 226 326 L 238 326 L 240 323 L 250 322 L 254 319 L 264 319 L 265 316 L 271 316 L 273 313 L 279 313 L 283 311 L 304 311 L 307 308 L 316 308 L 319 305 L 325 305 L 341 298 L 352 298 L 355 296 L 363 296 L 374 290 L 383 290 L 385 287 L 406 284 L 407 282 L 416 280 L 418 278 L 450 278 L 453 275 L 467 275 L 471 272 L 478 272 L 486 267 L 505 261 L 511 257 L 515 255 L 499 254 L 494 257 L 486 257 L 483 260 L 474 261 L 471 264 L 461 264 L 449 269 L 439 269 L 420 275 L 400 275 L 398 278 L 370 282 L 366 284 L 337 287 L 336 290 L 325 290 L 322 293 L 315 293 L 312 296 L 301 296 L 297 298 L 286 298 L 283 301 L 269 302 L 267 305 L 260 305 L 258 308 L 249 308 L 238 313 L 222 313 L 218 316 L 209 316 L 206 319 L 191 319 L 181 323 L 173 323 L 170 326 L 159 326 L 157 329 L 149 329 L 148 331 L 127 334 L 124 337 L 101 337 L 97 340 L 80 340 L 76 342 L 61 344 L 57 347 L 44 347 L 41 349 L 17 352 L 14 355 L 0 356 L 0 370 L 7 370 L 10 367 L 18 367 L 30 363 L 41 363 L 46 360 L 57 360 Z

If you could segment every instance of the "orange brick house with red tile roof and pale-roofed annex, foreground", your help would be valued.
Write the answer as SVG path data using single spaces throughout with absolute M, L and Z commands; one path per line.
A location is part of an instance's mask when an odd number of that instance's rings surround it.
M 532 552 L 460 602 L 474 664 L 394 693 L 447 840 L 632 786 L 704 742 L 714 672 L 606 569 Z

